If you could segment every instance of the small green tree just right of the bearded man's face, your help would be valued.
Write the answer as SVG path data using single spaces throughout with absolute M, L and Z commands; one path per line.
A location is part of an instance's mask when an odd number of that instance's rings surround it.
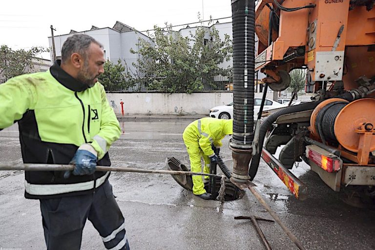
M 98 78 L 99 82 L 104 85 L 107 91 L 121 91 L 134 85 L 134 81 L 128 81 L 130 74 L 125 72 L 125 66 L 121 59 L 117 64 L 107 60 L 104 62 L 104 73 Z

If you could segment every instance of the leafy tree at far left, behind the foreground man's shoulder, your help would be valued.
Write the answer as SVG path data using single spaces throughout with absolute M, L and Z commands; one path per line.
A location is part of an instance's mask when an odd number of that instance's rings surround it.
M 12 50 L 7 45 L 0 46 L 0 75 L 10 79 L 25 73 L 33 72 L 33 58 L 48 49 L 43 47 L 32 47 L 29 50 Z

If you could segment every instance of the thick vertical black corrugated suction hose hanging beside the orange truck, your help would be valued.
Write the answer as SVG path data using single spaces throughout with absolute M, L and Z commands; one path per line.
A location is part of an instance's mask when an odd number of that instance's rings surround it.
M 232 0 L 233 139 L 251 148 L 254 106 L 254 0 Z

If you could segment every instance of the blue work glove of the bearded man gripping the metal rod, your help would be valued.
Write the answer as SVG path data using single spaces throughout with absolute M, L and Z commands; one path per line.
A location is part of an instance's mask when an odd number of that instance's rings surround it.
M 93 174 L 98 160 L 97 154 L 98 153 L 91 145 L 81 145 L 69 163 L 75 166 L 72 173 L 74 175 Z M 70 171 L 65 171 L 64 178 L 69 178 L 70 173 Z

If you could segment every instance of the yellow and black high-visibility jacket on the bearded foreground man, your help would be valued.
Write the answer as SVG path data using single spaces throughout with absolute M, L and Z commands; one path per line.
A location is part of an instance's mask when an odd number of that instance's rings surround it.
M 88 88 L 55 63 L 47 72 L 0 84 L 0 130 L 18 122 L 24 163 L 68 164 L 88 143 L 98 165 L 110 166 L 109 146 L 121 134 L 104 87 Z M 63 178 L 63 171 L 25 171 L 25 197 L 49 198 L 93 192 L 109 172 Z

